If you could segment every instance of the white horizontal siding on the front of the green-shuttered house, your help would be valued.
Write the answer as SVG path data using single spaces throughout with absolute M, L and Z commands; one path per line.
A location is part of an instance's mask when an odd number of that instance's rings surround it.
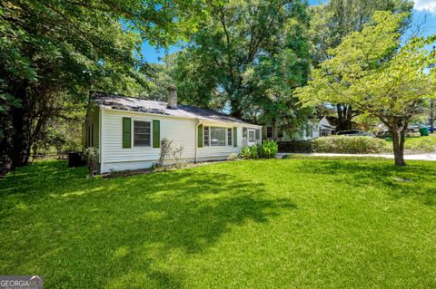
M 238 146 L 204 147 L 197 146 L 197 120 L 149 115 L 131 111 L 102 110 L 102 172 L 124 169 L 144 169 L 151 167 L 159 159 L 160 149 L 123 149 L 123 118 L 134 120 L 160 120 L 161 140 L 173 140 L 173 145 L 183 145 L 183 161 L 226 159 L 232 153 L 239 153 L 243 145 L 243 127 L 250 125 L 205 122 L 204 126 L 237 128 Z M 253 128 L 260 128 L 253 126 Z M 153 135 L 153 133 L 152 133 Z M 153 143 L 153 140 L 152 140 Z M 132 143 L 133 145 L 133 143 Z M 167 163 L 172 163 L 169 160 Z

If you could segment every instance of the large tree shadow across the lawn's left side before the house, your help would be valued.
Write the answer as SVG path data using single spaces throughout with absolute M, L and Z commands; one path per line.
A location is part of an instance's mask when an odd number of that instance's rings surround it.
M 179 288 L 183 271 L 170 259 L 202 255 L 234 226 L 296 208 L 265 197 L 263 182 L 225 169 L 87 179 L 84 169 L 64 165 L 35 164 L 2 180 L 16 186 L 1 184 L 2 197 L 27 207 L 9 208 L 2 219 L 5 274 L 49 276 L 48 286 Z

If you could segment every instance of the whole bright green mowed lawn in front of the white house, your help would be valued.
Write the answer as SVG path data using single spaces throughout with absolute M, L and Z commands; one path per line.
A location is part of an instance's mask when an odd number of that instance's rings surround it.
M 234 161 L 0 180 L 0 274 L 46 288 L 434 288 L 436 163 Z

